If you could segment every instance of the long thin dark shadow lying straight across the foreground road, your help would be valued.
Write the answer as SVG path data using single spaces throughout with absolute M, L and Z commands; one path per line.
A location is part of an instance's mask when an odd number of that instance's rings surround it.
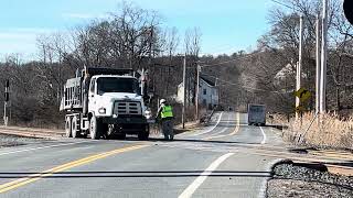
M 44 176 L 51 174 L 50 176 Z M 0 173 L 0 178 L 133 178 L 133 177 L 199 177 L 207 174 L 208 177 L 271 177 L 270 172 L 233 172 L 233 170 L 172 170 L 172 172 L 60 172 L 60 173 L 35 173 L 35 172 L 9 172 Z

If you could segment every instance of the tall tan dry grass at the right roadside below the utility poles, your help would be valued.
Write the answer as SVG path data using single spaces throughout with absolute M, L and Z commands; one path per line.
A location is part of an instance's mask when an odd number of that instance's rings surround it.
M 353 150 L 353 118 L 340 119 L 335 113 L 320 117 L 306 113 L 302 120 L 293 119 L 284 134 L 299 144 Z

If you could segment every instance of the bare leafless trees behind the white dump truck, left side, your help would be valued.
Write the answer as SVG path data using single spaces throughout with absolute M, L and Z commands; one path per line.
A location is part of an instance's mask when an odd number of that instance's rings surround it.
M 0 63 L 0 81 L 10 80 L 11 123 L 62 127 L 63 87 L 84 66 L 148 69 L 156 109 L 158 99 L 174 98 L 186 56 L 188 92 L 194 95 L 201 37 L 200 29 L 192 28 L 181 41 L 178 29 L 164 28 L 159 13 L 126 2 L 107 19 L 68 33 L 39 35 L 38 59 L 23 63 L 13 54 Z M 191 98 L 189 102 L 194 103 L 195 96 Z

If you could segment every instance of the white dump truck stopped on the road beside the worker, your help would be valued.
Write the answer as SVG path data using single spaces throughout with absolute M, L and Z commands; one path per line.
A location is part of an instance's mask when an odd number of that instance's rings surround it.
M 76 70 L 64 86 L 61 111 L 65 111 L 67 138 L 117 136 L 137 134 L 148 140 L 150 127 L 146 114 L 141 82 L 132 69 L 88 68 Z

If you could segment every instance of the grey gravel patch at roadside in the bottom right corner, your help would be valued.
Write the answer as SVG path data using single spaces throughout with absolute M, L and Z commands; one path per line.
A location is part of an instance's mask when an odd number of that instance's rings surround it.
M 353 177 L 334 175 L 323 167 L 278 164 L 267 184 L 267 197 L 351 198 Z

